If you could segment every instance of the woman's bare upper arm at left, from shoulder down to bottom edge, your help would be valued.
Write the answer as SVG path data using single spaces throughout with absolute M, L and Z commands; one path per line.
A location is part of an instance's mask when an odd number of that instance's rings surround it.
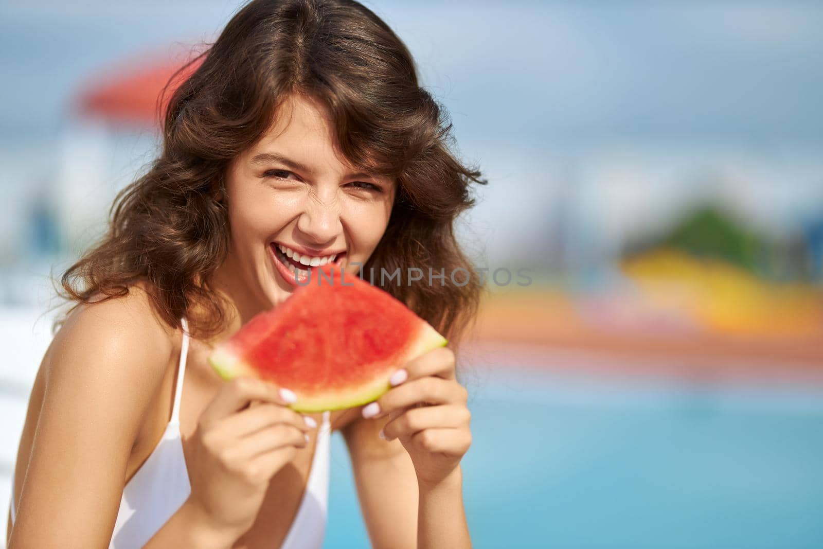
M 108 547 L 128 458 L 170 361 L 169 335 L 147 315 L 133 292 L 78 308 L 54 338 L 40 410 L 29 412 L 30 452 L 17 456 L 9 549 Z

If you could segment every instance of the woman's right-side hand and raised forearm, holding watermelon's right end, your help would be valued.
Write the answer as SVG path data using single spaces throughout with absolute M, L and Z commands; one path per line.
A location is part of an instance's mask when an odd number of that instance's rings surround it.
M 471 414 L 453 353 L 430 351 L 406 370 L 407 381 L 365 407 L 376 419 L 358 416 L 342 430 L 372 545 L 471 547 L 459 466 Z

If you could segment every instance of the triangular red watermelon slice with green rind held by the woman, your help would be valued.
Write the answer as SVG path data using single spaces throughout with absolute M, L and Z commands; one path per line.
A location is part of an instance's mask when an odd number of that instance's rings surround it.
M 323 270 L 323 275 L 319 271 Z M 223 379 L 241 375 L 291 389 L 300 412 L 371 402 L 407 361 L 447 341 L 387 292 L 331 265 L 263 311 L 208 357 Z

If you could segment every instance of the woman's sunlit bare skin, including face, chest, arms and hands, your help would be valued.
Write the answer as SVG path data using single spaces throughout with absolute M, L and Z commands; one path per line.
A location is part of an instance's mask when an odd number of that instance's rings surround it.
M 218 340 L 295 291 L 272 242 L 337 253 L 355 276 L 392 211 L 395 182 L 351 174 L 318 104 L 295 97 L 281 114 L 230 164 L 226 196 L 215 197 L 229 206 L 231 237 L 215 277 L 230 307 Z M 262 153 L 281 160 L 253 163 Z M 123 486 L 165 432 L 180 356 L 182 333 L 156 316 L 147 290 L 137 281 L 126 296 L 78 307 L 49 345 L 17 453 L 8 547 L 108 547 Z M 277 547 L 305 491 L 322 417 L 292 411 L 274 384 L 223 381 L 207 364 L 212 348 L 192 338 L 181 397 L 191 493 L 146 549 Z M 398 365 L 393 382 L 368 407 L 330 416 L 351 454 L 370 541 L 471 547 L 460 469 L 470 415 L 454 355 L 441 347 Z

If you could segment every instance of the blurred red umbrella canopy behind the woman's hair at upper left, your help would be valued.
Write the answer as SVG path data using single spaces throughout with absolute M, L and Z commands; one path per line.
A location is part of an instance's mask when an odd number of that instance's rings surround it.
M 182 61 L 175 61 L 169 54 L 146 54 L 101 70 L 77 96 L 77 111 L 114 123 L 159 127 L 160 113 L 165 114 L 174 90 L 197 70 L 205 56 L 176 77 L 174 72 L 194 57 L 188 54 Z M 164 91 L 166 85 L 169 87 Z

